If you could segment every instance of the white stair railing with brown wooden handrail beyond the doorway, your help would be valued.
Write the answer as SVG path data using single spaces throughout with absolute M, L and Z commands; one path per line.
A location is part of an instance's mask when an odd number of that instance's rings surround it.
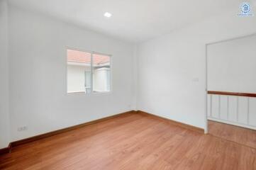
M 256 130 L 256 94 L 208 91 L 208 120 Z

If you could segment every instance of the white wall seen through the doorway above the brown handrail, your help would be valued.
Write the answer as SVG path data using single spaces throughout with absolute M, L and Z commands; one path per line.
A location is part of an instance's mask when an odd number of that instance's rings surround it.
M 256 35 L 207 47 L 208 90 L 256 93 Z

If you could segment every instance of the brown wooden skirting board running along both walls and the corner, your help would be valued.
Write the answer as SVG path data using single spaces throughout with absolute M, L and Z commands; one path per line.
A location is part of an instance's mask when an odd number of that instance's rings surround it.
M 117 115 L 111 115 L 111 116 L 108 116 L 106 118 L 101 118 L 101 119 L 98 119 L 98 120 L 93 120 L 93 121 L 88 122 L 88 123 L 82 123 L 82 124 L 79 124 L 79 125 L 74 125 L 74 126 L 69 127 L 69 128 L 55 130 L 55 131 L 48 132 L 48 133 L 45 133 L 45 134 L 42 134 L 42 135 L 36 135 L 34 137 L 28 137 L 28 138 L 23 139 L 23 140 L 17 140 L 15 142 L 11 142 L 9 144 L 9 147 L 0 149 L 0 154 L 10 153 L 11 149 L 13 147 L 18 147 L 20 145 L 23 145 L 23 144 L 26 144 L 26 143 L 29 143 L 29 142 L 33 142 L 35 140 L 40 140 L 40 139 L 43 139 L 45 137 L 51 137 L 53 135 L 57 135 L 57 134 L 60 134 L 62 132 L 67 132 L 67 131 L 70 131 L 70 130 L 75 130 L 77 128 L 82 128 L 82 127 L 87 126 L 87 125 L 92 125 L 92 124 L 95 124 L 95 123 L 100 123 L 100 122 L 102 122 L 104 120 L 108 120 L 108 119 L 111 119 L 111 118 L 116 118 L 116 117 L 119 117 L 119 116 L 122 116 L 122 115 L 128 115 L 128 114 L 140 114 L 140 115 L 150 116 L 151 118 L 156 118 L 156 119 L 161 120 L 161 121 L 164 120 L 167 123 L 171 123 L 172 125 L 177 125 L 179 127 L 186 128 L 188 130 L 193 130 L 194 132 L 204 133 L 204 129 L 197 128 L 197 127 L 194 127 L 192 125 L 187 125 L 187 124 L 184 124 L 184 123 L 179 123 L 177 121 L 170 120 L 170 119 L 167 119 L 167 118 L 162 118 L 162 117 L 160 117 L 158 115 L 153 115 L 151 113 L 146 113 L 144 111 L 128 111 L 128 112 L 125 112 L 125 113 L 119 113 Z

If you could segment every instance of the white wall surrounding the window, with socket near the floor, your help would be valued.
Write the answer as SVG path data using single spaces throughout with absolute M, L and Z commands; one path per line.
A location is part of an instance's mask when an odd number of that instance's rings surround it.
M 130 111 L 133 45 L 14 6 L 9 17 L 12 141 Z M 112 55 L 111 94 L 66 95 L 66 45 Z

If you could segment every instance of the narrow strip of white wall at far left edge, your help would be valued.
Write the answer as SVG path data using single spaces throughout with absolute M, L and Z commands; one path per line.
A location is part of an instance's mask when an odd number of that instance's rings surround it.
M 0 149 L 9 145 L 8 6 L 0 1 Z

